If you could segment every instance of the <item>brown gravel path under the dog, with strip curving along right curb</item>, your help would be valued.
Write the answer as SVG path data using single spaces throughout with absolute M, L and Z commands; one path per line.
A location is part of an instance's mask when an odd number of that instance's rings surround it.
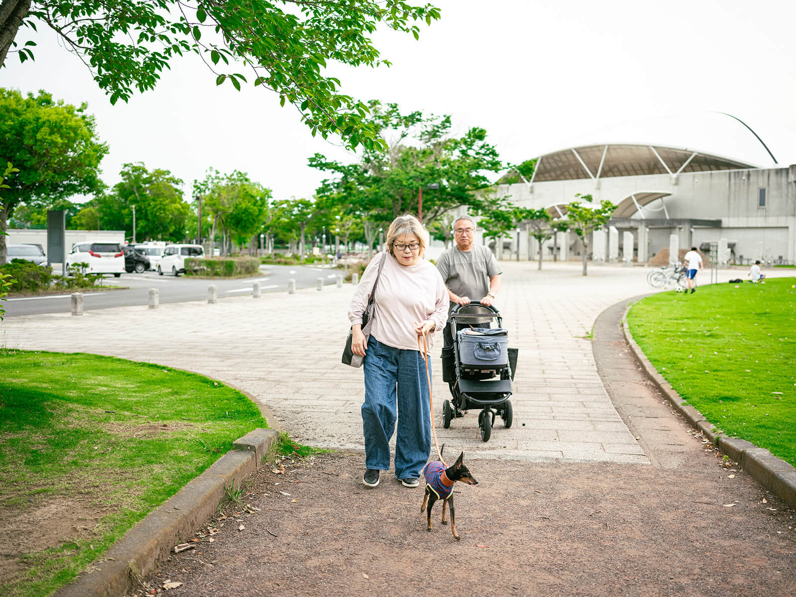
M 673 414 L 622 311 L 595 322 L 595 361 L 651 464 L 466 455 L 479 485 L 457 486 L 455 541 L 439 504 L 427 533 L 422 487 L 363 486 L 361 452 L 286 461 L 135 595 L 796 595 L 796 513 Z

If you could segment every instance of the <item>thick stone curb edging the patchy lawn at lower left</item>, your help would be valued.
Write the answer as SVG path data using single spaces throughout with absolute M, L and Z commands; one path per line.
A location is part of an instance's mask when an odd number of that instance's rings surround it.
M 111 597 L 130 591 L 139 578 L 170 555 L 175 545 L 193 537 L 218 508 L 224 487 L 240 486 L 278 439 L 279 432 L 274 429 L 256 429 L 238 439 L 232 450 L 147 514 L 92 565 L 90 572 L 61 588 L 56 597 Z

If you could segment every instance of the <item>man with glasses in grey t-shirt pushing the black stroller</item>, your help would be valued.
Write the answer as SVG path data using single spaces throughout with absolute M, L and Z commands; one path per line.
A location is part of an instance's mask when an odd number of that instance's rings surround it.
M 500 290 L 502 273 L 490 249 L 473 244 L 475 222 L 470 216 L 462 216 L 454 221 L 453 234 L 455 245 L 437 259 L 437 269 L 443 276 L 448 298 L 451 299 L 448 322 L 443 330 L 445 347 L 453 345 L 451 310 L 456 305 L 469 305 L 471 302 L 490 306 Z M 467 323 L 473 325 L 486 325 L 490 321 L 489 318 L 467 319 Z M 460 415 L 458 412 L 456 414 Z

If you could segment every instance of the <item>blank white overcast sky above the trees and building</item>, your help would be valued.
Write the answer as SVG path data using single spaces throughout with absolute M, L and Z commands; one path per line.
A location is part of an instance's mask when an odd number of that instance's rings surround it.
M 442 19 L 419 41 L 375 37 L 392 68 L 331 65 L 342 91 L 450 114 L 460 133 L 484 127 L 509 162 L 590 142 L 654 142 L 771 166 L 749 131 L 712 113 L 722 111 L 755 129 L 780 165 L 796 163 L 792 0 L 433 3 Z M 123 163 L 145 162 L 190 193 L 213 166 L 248 172 L 275 198 L 311 197 L 324 175 L 307 158 L 353 159 L 313 139 L 275 94 L 217 88 L 195 56 L 175 60 L 153 92 L 111 106 L 54 33 L 40 33 L 36 61 L 6 60 L 0 85 L 87 101 L 111 147 L 102 162 L 110 185 Z

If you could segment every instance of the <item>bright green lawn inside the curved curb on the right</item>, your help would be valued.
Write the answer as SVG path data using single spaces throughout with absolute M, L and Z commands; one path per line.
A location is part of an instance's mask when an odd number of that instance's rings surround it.
M 627 323 L 656 369 L 708 421 L 796 465 L 794 283 L 661 292 L 632 306 Z

